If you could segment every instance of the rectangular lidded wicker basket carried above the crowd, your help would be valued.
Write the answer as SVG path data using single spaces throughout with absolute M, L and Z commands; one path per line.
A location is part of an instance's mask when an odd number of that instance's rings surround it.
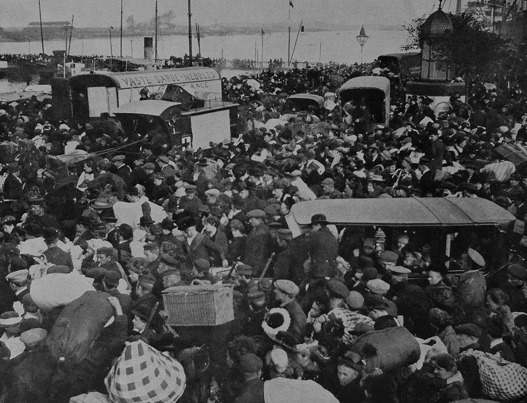
M 163 290 L 167 325 L 214 326 L 234 320 L 230 284 L 175 286 Z

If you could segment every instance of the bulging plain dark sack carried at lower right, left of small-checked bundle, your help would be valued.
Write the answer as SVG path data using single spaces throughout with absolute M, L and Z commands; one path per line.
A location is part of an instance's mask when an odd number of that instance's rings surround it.
M 368 331 L 355 341 L 350 350 L 364 357 L 363 349 L 366 345 L 376 348 L 378 366 L 383 371 L 415 364 L 421 356 L 417 340 L 403 326 Z

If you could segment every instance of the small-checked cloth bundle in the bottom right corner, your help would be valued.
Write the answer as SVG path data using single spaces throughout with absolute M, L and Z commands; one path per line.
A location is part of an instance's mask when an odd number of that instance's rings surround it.
M 465 356 L 476 359 L 483 393 L 487 397 L 508 403 L 527 396 L 527 368 L 490 352 L 471 349 L 460 354 L 460 357 Z

